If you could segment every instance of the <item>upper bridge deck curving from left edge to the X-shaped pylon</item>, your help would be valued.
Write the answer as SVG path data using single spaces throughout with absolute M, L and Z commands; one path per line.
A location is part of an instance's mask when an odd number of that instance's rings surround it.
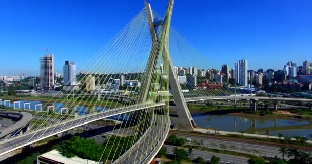
M 45 127 L 39 130 L 26 132 L 23 135 L 17 135 L 10 139 L 5 139 L 0 142 L 0 156 L 12 152 L 16 149 L 23 148 L 34 142 L 40 141 L 42 139 L 48 138 L 50 136 L 68 131 L 70 129 L 89 124 L 90 122 L 111 117 L 114 115 L 119 115 L 123 113 L 128 113 L 136 110 L 153 108 L 163 106 L 165 103 L 145 103 L 139 105 L 133 105 L 123 108 L 109 109 L 103 112 L 93 113 L 86 116 L 74 118 L 68 121 L 63 121 L 60 124 Z

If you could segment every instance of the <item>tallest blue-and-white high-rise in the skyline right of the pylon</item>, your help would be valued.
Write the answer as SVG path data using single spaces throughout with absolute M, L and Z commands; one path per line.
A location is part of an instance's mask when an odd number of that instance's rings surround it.
M 247 86 L 247 69 L 248 62 L 245 59 L 239 60 L 234 64 L 235 66 L 235 83 L 240 84 L 241 86 Z

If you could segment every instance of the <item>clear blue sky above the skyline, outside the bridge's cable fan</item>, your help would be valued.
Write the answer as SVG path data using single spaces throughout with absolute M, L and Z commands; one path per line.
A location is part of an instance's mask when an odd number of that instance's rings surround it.
M 150 0 L 162 14 L 166 0 Z M 172 26 L 207 59 L 207 68 L 246 58 L 250 69 L 312 60 L 312 1 L 175 1 Z M 0 75 L 38 75 L 50 49 L 55 71 L 81 68 L 143 8 L 143 1 L 0 1 Z

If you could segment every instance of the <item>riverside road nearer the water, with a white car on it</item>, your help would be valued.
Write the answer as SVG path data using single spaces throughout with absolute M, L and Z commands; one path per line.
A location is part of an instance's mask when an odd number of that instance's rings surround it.
M 212 139 L 212 138 L 204 138 L 199 136 L 191 136 L 191 135 L 184 135 L 178 134 L 178 137 L 188 137 L 192 141 L 196 140 L 198 143 L 202 143 L 204 147 L 208 148 L 216 148 L 221 149 L 220 144 L 224 145 L 223 149 L 235 152 L 241 152 L 245 154 L 251 154 L 256 156 L 267 156 L 267 157 L 280 157 L 282 158 L 282 154 L 279 152 L 279 147 L 276 146 L 267 146 L 267 145 L 260 145 L 260 144 L 252 144 L 247 143 L 244 141 L 230 141 L 230 140 L 219 140 L 219 139 Z M 194 145 L 192 142 L 186 142 L 188 145 Z M 288 159 L 285 157 L 285 159 Z

